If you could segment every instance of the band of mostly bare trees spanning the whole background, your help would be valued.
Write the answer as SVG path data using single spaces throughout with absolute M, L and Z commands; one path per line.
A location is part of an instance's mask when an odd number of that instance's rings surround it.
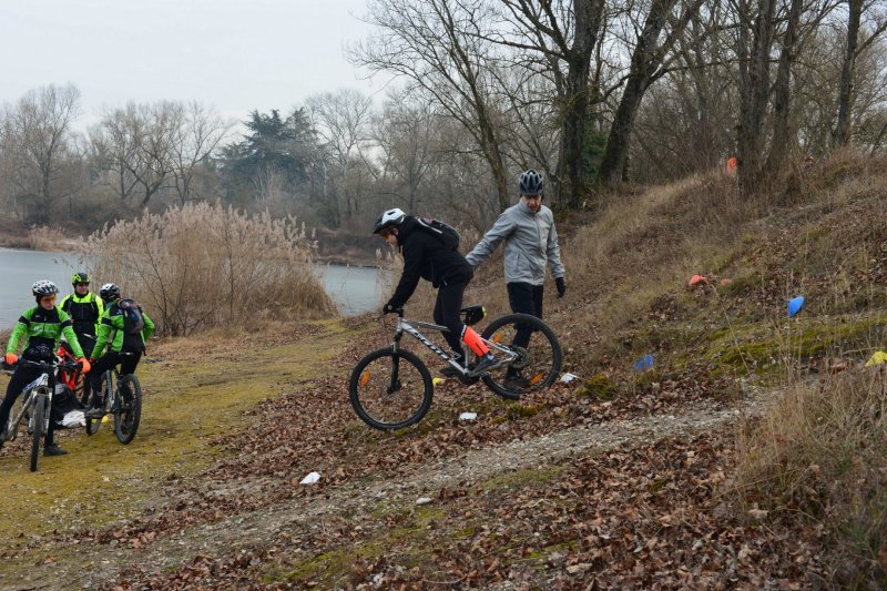
M 221 201 L 364 232 L 386 206 L 483 227 L 536 167 L 549 203 L 723 166 L 743 192 L 805 157 L 883 151 L 887 11 L 874 0 L 370 0 L 348 49 L 395 74 L 226 121 L 130 103 L 75 133 L 74 85 L 0 111 L 0 204 L 90 231 L 144 208 Z M 282 105 L 284 106 L 284 105 Z

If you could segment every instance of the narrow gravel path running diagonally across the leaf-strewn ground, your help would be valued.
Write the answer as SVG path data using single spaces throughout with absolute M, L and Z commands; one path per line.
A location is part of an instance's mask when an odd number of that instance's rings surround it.
M 742 406 L 746 416 L 758 415 L 764 395 L 753 393 Z M 114 546 L 84 546 L 75 549 L 77 560 L 63 557 L 37 564 L 27 580 L 3 589 L 95 588 L 116 577 L 122 565 L 139 565 L 147 572 L 177 569 L 196 556 L 223 556 L 267 544 L 279 533 L 309 534 L 328 518 L 366 514 L 380 501 L 389 508 L 414 507 L 419 497 L 435 498 L 443 487 L 477 482 L 512 470 L 544 467 L 574 455 L 590 455 L 626 442 L 649 444 L 675 436 L 712 430 L 735 422 L 740 409 L 694 404 L 670 412 L 590 424 L 528 440 L 475 449 L 459 457 L 418 465 L 400 481 L 380 478 L 350 481 L 328 488 L 323 495 L 297 498 L 236 514 L 210 524 L 159 537 L 146 548 L 132 550 Z M 60 551 L 64 551 L 59 549 Z M 67 549 L 70 551 L 70 549 Z

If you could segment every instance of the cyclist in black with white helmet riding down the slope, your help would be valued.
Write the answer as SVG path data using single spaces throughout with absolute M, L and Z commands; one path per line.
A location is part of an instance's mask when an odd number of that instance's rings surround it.
M 384 314 L 401 308 L 416 291 L 419 278 L 431 282 L 438 288 L 435 302 L 435 322 L 448 328 L 443 333 L 452 349 L 452 357 L 459 365 L 466 365 L 462 342 L 480 358 L 472 368 L 479 375 L 498 365 L 496 357 L 470 327 L 462 324 L 459 312 L 462 308 L 462 294 L 471 281 L 473 272 L 459 251 L 449 247 L 446 242 L 430 232 L 419 227 L 416 217 L 405 214 L 395 207 L 383 212 L 373 226 L 373 233 L 380 235 L 389 245 L 401 251 L 404 255 L 404 273 L 394 295 L 383 307 Z M 440 373 L 448 377 L 459 371 L 447 366 Z

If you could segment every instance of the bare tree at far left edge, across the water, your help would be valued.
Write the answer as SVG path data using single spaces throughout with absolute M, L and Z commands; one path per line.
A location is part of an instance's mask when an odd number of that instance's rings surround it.
M 71 174 L 77 167 L 71 125 L 79 105 L 77 86 L 50 84 L 28 92 L 3 120 L 2 143 L 10 161 L 7 182 L 13 204 L 30 222 L 48 223 L 57 202 L 77 191 L 71 182 L 77 177 Z

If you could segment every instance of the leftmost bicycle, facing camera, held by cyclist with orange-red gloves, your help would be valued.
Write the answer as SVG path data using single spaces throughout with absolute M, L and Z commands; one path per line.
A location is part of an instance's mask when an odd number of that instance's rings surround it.
M 44 440 L 51 420 L 50 409 L 52 408 L 52 395 L 55 393 L 55 370 L 79 371 L 80 364 L 59 357 L 53 361 L 31 361 L 19 358 L 18 363 L 39 367 L 43 373 L 22 389 L 17 401 L 18 410 L 14 407 L 11 409 L 9 421 L 6 429 L 0 432 L 0 438 L 3 441 L 14 441 L 19 436 L 19 424 L 27 422 L 28 434 L 31 436 L 31 471 L 35 472 L 40 458 L 40 445 Z

